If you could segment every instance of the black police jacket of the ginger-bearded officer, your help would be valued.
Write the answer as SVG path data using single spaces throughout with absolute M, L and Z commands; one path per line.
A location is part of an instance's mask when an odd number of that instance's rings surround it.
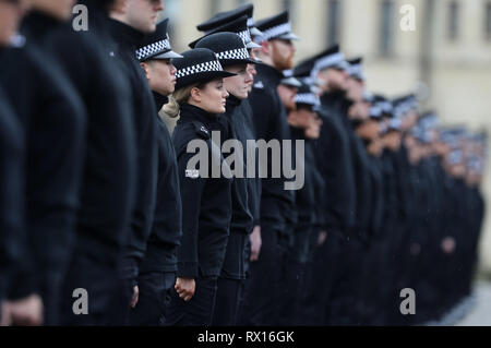
M 282 72 L 266 64 L 256 67 L 258 75 L 249 101 L 254 116 L 258 140 L 280 143 L 290 139 L 285 107 L 276 91 L 283 79 Z M 295 220 L 295 192 L 285 190 L 285 177 L 273 178 L 272 158 L 267 158 L 267 178 L 262 180 L 261 224 L 273 226 L 279 232 L 288 233 L 288 226 Z

